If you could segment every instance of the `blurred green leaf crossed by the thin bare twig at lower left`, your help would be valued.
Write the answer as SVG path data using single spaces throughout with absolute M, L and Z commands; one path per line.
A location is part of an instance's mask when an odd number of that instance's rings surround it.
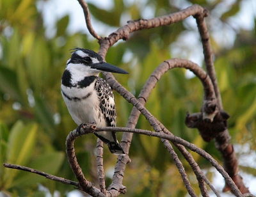
M 51 175 L 55 175 L 60 169 L 64 158 L 65 154 L 63 152 L 47 152 L 44 155 L 38 155 L 35 157 L 33 161 L 29 162 L 28 167 L 44 171 L 45 173 L 49 173 Z M 13 181 L 12 187 L 26 187 L 28 185 L 35 185 L 40 182 L 42 183 L 45 180 L 47 179 L 40 175 L 22 171 Z

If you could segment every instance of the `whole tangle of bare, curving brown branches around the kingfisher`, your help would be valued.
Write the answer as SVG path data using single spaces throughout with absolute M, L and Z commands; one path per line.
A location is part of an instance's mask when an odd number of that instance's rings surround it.
M 4 167 L 29 171 L 38 175 L 42 175 L 45 178 L 56 180 L 63 184 L 74 185 L 77 189 L 85 191 L 92 196 L 118 196 L 120 193 L 125 194 L 127 191 L 126 187 L 122 185 L 122 180 L 124 178 L 125 166 L 126 164 L 131 162 L 128 154 L 132 141 L 132 133 L 137 133 L 161 139 L 164 147 L 166 148 L 166 150 L 168 150 L 170 156 L 173 159 L 173 162 L 175 162 L 177 168 L 179 169 L 180 176 L 182 177 L 184 185 L 190 196 L 196 196 L 195 191 L 193 191 L 193 188 L 189 183 L 188 176 L 186 175 L 186 171 L 182 166 L 182 162 L 180 162 L 170 142 L 172 142 L 172 144 L 178 148 L 180 153 L 188 162 L 189 166 L 191 166 L 191 168 L 193 169 L 193 172 L 195 173 L 198 180 L 198 186 L 200 188 L 202 196 L 209 196 L 205 184 L 209 185 L 209 187 L 216 194 L 216 196 L 220 196 L 220 194 L 218 193 L 218 191 L 216 191 L 211 182 L 209 182 L 207 177 L 205 177 L 203 171 L 200 169 L 198 164 L 196 164 L 195 160 L 193 159 L 191 154 L 189 154 L 186 148 L 204 157 L 212 164 L 212 166 L 214 166 L 214 168 L 216 168 L 221 173 L 221 175 L 225 178 L 226 182 L 224 188 L 225 191 L 230 190 L 236 196 L 243 196 L 244 193 L 249 193 L 248 189 L 243 184 L 242 178 L 237 175 L 237 159 L 234 153 L 234 149 L 230 144 L 230 136 L 228 135 L 227 130 L 227 119 L 229 118 L 229 116 L 225 111 L 223 111 L 223 107 L 221 104 L 220 91 L 218 90 L 216 74 L 212 61 L 212 49 L 209 42 L 209 33 L 207 31 L 204 20 L 204 17 L 207 17 L 209 15 L 209 12 L 201 6 L 195 4 L 184 10 L 181 10 L 180 12 L 156 17 L 154 19 L 130 20 L 125 26 L 117 29 L 108 37 L 102 38 L 97 35 L 92 27 L 87 4 L 83 0 L 78 1 L 83 8 L 84 18 L 88 31 L 94 38 L 99 40 L 99 54 L 102 56 L 102 58 L 106 56 L 109 47 L 114 45 L 120 39 L 128 40 L 130 33 L 134 31 L 157 28 L 159 26 L 168 26 L 175 22 L 180 22 L 181 20 L 184 20 L 189 16 L 195 17 L 196 24 L 198 25 L 198 31 L 202 38 L 206 72 L 195 63 L 186 59 L 166 59 L 163 61 L 163 63 L 156 67 L 154 72 L 152 72 L 152 74 L 148 77 L 148 80 L 141 89 L 140 95 L 137 99 L 129 91 L 125 90 L 125 88 L 120 83 L 118 83 L 118 81 L 116 81 L 115 77 L 113 77 L 111 73 L 103 72 L 104 78 L 109 83 L 111 88 L 113 88 L 113 90 L 116 90 L 120 95 L 122 95 L 122 97 L 124 97 L 125 100 L 127 100 L 127 102 L 131 103 L 134 107 L 132 108 L 129 120 L 127 121 L 127 125 L 125 128 L 96 127 L 96 125 L 90 123 L 83 123 L 82 125 L 77 127 L 77 129 L 73 130 L 72 132 L 70 132 L 70 134 L 68 134 L 66 140 L 66 153 L 68 157 L 68 162 L 70 163 L 70 168 L 74 172 L 78 182 L 72 182 L 70 180 L 66 180 L 65 178 L 55 177 L 42 171 L 26 168 L 24 166 L 4 164 Z M 202 82 L 202 85 L 204 87 L 204 102 L 202 104 L 202 109 L 200 113 L 188 113 L 185 119 L 185 123 L 187 127 L 197 128 L 200 132 L 200 135 L 205 141 L 209 142 L 211 141 L 211 139 L 214 139 L 216 148 L 218 148 L 218 150 L 221 152 L 221 155 L 223 155 L 224 169 L 218 164 L 216 160 L 211 157 L 211 155 L 207 154 L 207 152 L 205 152 L 204 150 L 196 147 L 188 141 L 185 141 L 184 139 L 174 136 L 172 132 L 166 129 L 166 127 L 164 127 L 164 125 L 159 122 L 159 120 L 157 120 L 144 107 L 145 102 L 147 102 L 147 99 L 150 95 L 150 92 L 156 86 L 156 83 L 159 81 L 161 76 L 172 68 L 189 69 Z M 145 116 L 145 118 L 152 126 L 154 132 L 150 130 L 134 129 L 136 123 L 138 122 L 138 117 L 140 116 L 140 114 Z M 100 141 L 99 139 L 97 141 L 97 174 L 99 177 L 100 189 L 95 187 L 95 185 L 89 180 L 86 180 L 83 175 L 83 171 L 77 162 L 74 150 L 74 141 L 77 137 L 84 134 L 99 132 L 102 130 L 109 132 L 124 132 L 120 144 L 124 149 L 125 155 L 118 156 L 113 180 L 111 185 L 109 185 L 108 189 L 106 189 L 106 184 L 104 180 L 102 141 Z

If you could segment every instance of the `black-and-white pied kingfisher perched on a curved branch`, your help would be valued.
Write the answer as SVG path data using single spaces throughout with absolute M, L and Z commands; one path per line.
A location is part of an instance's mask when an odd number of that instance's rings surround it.
M 96 123 L 99 127 L 116 126 L 113 92 L 99 76 L 101 71 L 129 74 L 121 68 L 103 61 L 97 52 L 74 48 L 61 78 L 61 94 L 77 125 Z M 112 154 L 124 155 L 115 132 L 95 132 L 95 136 L 108 145 Z

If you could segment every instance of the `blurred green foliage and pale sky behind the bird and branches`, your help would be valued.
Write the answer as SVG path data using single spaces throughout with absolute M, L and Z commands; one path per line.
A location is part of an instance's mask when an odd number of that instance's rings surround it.
M 255 1 L 90 0 L 86 3 L 93 28 L 100 36 L 108 36 L 127 20 L 167 15 L 195 3 L 210 11 L 206 22 L 223 107 L 230 114 L 228 130 L 239 159 L 239 174 L 256 194 L 253 187 L 256 185 Z M 65 139 L 77 125 L 61 97 L 60 79 L 70 58 L 70 49 L 99 49 L 97 40 L 86 29 L 83 10 L 76 0 L 1 0 L 0 33 L 0 196 L 79 196 L 72 185 L 6 169 L 2 163 L 28 166 L 76 180 L 65 156 Z M 138 96 L 154 68 L 169 58 L 190 59 L 204 67 L 202 44 L 193 17 L 170 26 L 132 33 L 127 42 L 119 41 L 109 49 L 106 61 L 130 72 L 114 75 Z M 117 125 L 125 127 L 132 106 L 114 94 Z M 200 111 L 202 97 L 200 81 L 186 70 L 174 69 L 161 78 L 146 107 L 173 134 L 195 143 L 221 163 L 214 144 L 205 143 L 196 129 L 184 125 L 186 111 Z M 151 130 L 143 117 L 136 128 Z M 118 134 L 118 139 L 121 135 Z M 95 146 L 94 135 L 75 142 L 83 173 L 96 184 Z M 111 155 L 106 146 L 104 149 L 108 187 L 116 156 Z M 191 154 L 221 191 L 225 184 L 223 178 L 209 162 Z M 132 162 L 125 169 L 125 196 L 188 196 L 175 164 L 159 139 L 135 134 L 130 157 Z M 195 175 L 181 156 L 180 160 L 199 195 Z

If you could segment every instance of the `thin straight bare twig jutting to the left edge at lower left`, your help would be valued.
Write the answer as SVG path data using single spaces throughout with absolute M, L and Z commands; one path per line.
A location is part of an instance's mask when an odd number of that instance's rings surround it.
M 20 169 L 22 171 L 28 171 L 28 172 L 31 172 L 31 173 L 35 173 L 35 174 L 41 175 L 41 176 L 43 176 L 43 177 L 45 177 L 47 179 L 55 180 L 57 182 L 61 182 L 62 184 L 74 185 L 74 186 L 77 187 L 77 189 L 81 189 L 79 183 L 77 183 L 77 182 L 74 182 L 72 180 L 67 180 L 67 179 L 62 178 L 62 177 L 56 177 L 54 175 L 50 175 L 50 174 L 44 173 L 43 171 L 39 171 L 37 169 L 28 168 L 28 167 L 19 166 L 19 165 L 13 165 L 13 164 L 6 164 L 6 163 L 4 163 L 3 166 L 5 168 Z

